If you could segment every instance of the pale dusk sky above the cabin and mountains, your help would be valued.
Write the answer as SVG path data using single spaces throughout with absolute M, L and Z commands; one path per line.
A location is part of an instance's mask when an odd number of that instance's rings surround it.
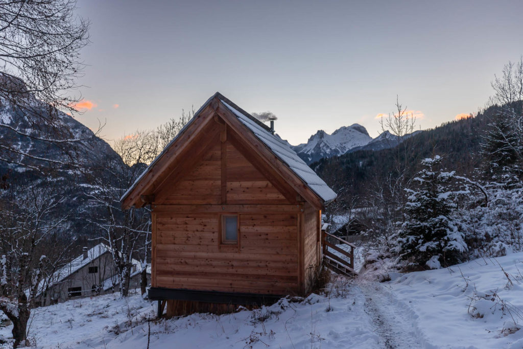
M 523 54 L 521 1 L 78 0 L 90 20 L 75 117 L 109 142 L 219 91 L 271 111 L 291 144 L 359 123 L 396 96 L 427 129 L 477 112 Z

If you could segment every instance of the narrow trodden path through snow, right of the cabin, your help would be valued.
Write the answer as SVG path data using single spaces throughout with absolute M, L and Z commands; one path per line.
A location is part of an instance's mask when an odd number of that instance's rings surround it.
M 435 348 L 427 343 L 425 335 L 417 327 L 417 316 L 411 307 L 398 300 L 384 285 L 357 279 L 356 287 L 365 296 L 365 312 L 376 326 L 381 347 Z

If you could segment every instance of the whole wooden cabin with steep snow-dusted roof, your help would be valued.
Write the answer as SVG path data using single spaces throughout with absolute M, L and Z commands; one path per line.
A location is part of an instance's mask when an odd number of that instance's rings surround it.
M 151 205 L 149 296 L 172 316 L 306 294 L 335 198 L 289 143 L 216 93 L 121 201 Z

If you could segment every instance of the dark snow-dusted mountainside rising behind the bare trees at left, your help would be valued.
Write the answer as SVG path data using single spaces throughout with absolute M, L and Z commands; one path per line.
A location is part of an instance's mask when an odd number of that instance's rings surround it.
M 11 188 L 4 195 L 16 195 L 12 192 L 22 187 L 38 187 L 56 195 L 60 201 L 55 208 L 57 215 L 60 212 L 70 222 L 58 233 L 91 235 L 89 218 L 96 211 L 88 195 L 100 182 L 115 181 L 109 169 L 122 166 L 122 160 L 82 123 L 24 94 L 22 103 L 19 99 L 16 103 L 0 99 L 0 176 Z

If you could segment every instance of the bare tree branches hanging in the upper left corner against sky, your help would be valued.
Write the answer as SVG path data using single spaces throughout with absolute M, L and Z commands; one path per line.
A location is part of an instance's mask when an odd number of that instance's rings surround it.
M 70 132 L 60 111 L 75 111 L 79 97 L 69 92 L 78 87 L 76 79 L 83 68 L 79 50 L 88 43 L 88 23 L 75 16 L 75 8 L 75 0 L 0 0 L 4 139 L 28 138 L 64 150 L 85 139 Z M 19 120 L 5 115 L 17 115 Z M 7 142 L 0 146 L 0 161 L 35 169 L 65 165 Z

